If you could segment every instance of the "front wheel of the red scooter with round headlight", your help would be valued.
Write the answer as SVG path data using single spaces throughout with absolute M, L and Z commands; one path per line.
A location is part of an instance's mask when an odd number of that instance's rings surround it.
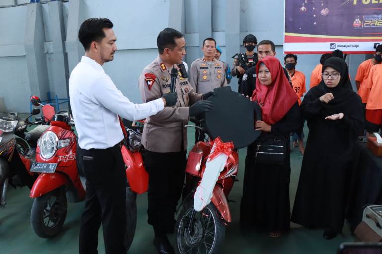
M 41 238 L 54 237 L 62 229 L 67 210 L 65 187 L 35 198 L 30 214 L 33 231 Z

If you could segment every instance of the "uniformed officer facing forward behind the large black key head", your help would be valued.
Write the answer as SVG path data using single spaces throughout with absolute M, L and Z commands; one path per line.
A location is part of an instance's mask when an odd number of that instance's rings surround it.
M 224 63 L 214 58 L 216 41 L 213 38 L 204 39 L 202 51 L 204 56 L 193 61 L 189 71 L 189 81 L 193 89 L 198 93 L 207 93 L 217 87 L 227 86 Z M 195 143 L 204 138 L 204 132 L 196 129 Z

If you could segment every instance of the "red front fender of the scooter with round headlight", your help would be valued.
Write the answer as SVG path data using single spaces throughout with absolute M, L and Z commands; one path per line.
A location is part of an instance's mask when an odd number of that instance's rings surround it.
M 69 181 L 64 174 L 61 173 L 42 173 L 38 176 L 30 190 L 29 197 L 36 198 L 57 189 L 60 186 L 68 184 Z

